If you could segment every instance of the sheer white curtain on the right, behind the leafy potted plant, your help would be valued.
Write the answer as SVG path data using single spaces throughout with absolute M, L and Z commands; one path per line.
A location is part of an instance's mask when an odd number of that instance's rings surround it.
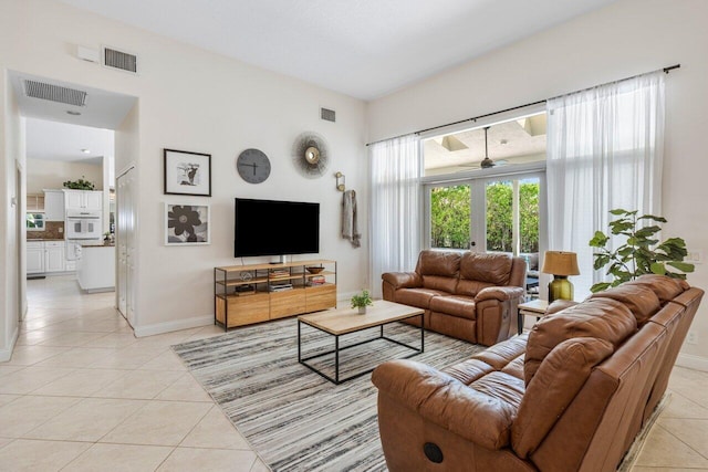
M 593 270 L 594 232 L 610 210 L 662 214 L 662 71 L 548 102 L 549 249 L 577 253 L 575 300 L 605 280 Z

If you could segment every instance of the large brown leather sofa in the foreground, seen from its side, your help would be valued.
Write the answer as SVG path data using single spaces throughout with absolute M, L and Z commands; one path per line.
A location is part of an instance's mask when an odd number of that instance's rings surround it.
M 378 366 L 396 471 L 615 471 L 666 391 L 704 295 L 644 275 L 442 370 Z

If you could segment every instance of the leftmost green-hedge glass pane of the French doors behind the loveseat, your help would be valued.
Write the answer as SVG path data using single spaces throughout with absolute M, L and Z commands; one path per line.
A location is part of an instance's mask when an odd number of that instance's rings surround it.
M 430 245 L 468 249 L 470 241 L 470 187 L 430 189 Z

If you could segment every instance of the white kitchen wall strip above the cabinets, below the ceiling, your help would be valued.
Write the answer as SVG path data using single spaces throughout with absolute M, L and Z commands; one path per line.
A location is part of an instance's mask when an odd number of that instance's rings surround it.
M 103 190 L 103 166 L 100 164 L 65 162 L 61 160 L 27 159 L 27 192 L 61 189 L 66 180 L 84 179 Z

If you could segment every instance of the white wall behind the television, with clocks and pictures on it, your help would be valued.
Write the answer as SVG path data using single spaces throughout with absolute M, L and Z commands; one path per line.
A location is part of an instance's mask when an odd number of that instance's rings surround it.
M 138 169 L 138 333 L 211 322 L 212 268 L 240 263 L 232 256 L 237 196 L 319 201 L 320 256 L 339 261 L 340 296 L 365 283 L 367 241 L 353 249 L 340 238 L 342 195 L 333 177 L 340 170 L 347 187 L 365 185 L 363 102 L 56 1 L 0 2 L 0 43 L 12 44 L 0 50 L 3 69 L 138 98 L 139 137 L 133 139 L 139 155 L 121 156 L 116 144 L 117 169 L 126 160 Z M 76 44 L 110 44 L 136 53 L 139 75 L 80 61 L 73 55 Z M 321 106 L 335 109 L 337 123 L 321 120 Z M 301 177 L 291 162 L 295 137 L 308 130 L 330 145 L 330 170 L 320 179 Z M 258 186 L 236 172 L 236 157 L 250 147 L 263 150 L 272 164 L 270 178 Z M 212 197 L 163 195 L 163 148 L 211 154 Z M 211 244 L 163 245 L 165 202 L 210 204 Z M 366 234 L 365 192 L 360 208 Z M 0 216 L 6 211 L 0 208 Z

